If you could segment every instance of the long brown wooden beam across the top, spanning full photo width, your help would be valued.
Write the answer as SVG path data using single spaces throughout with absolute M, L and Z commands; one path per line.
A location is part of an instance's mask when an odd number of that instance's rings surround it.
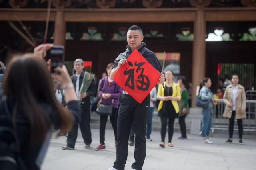
M 256 7 L 204 8 L 206 21 L 256 21 Z M 50 21 L 55 20 L 51 9 Z M 68 22 L 192 22 L 196 8 L 63 9 Z M 0 21 L 45 21 L 47 9 L 2 8 Z M 138 17 L 140 16 L 140 17 Z

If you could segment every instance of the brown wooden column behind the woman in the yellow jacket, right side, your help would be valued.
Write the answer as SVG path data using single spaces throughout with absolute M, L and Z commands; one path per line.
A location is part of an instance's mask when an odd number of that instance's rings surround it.
M 193 41 L 193 59 L 192 59 L 192 106 L 195 106 L 196 86 L 205 76 L 205 55 L 206 55 L 206 21 L 204 18 L 204 9 L 198 8 L 194 21 L 194 41 Z

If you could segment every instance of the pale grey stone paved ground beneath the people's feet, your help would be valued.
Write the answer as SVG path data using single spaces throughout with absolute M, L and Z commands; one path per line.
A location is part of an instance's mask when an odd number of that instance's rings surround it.
M 80 131 L 80 130 L 79 130 Z M 226 134 L 214 134 L 214 144 L 201 143 L 201 137 L 188 135 L 188 140 L 178 140 L 174 133 L 174 147 L 158 146 L 160 132 L 152 132 L 152 142 L 147 142 L 144 170 L 256 170 L 256 136 L 244 135 L 245 145 L 238 145 L 238 135 L 233 144 L 225 144 Z M 76 150 L 62 150 L 66 137 L 55 138 L 42 165 L 42 170 L 108 170 L 116 158 L 112 130 L 106 130 L 106 151 L 95 151 L 99 144 L 99 130 L 92 129 L 92 148 L 84 149 L 79 133 Z M 128 148 L 126 169 L 134 162 L 134 147 Z

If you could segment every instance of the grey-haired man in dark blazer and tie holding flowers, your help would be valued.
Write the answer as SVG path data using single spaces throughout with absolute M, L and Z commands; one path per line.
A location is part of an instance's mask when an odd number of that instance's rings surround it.
M 81 102 L 82 115 L 81 115 L 80 122 L 74 123 L 73 129 L 70 132 L 68 132 L 67 145 L 62 147 L 63 150 L 75 149 L 78 123 L 80 126 L 82 137 L 84 139 L 85 148 L 90 148 L 90 144 L 92 143 L 92 133 L 90 128 L 90 120 L 91 120 L 90 96 L 93 96 L 96 93 L 96 84 L 94 81 L 92 81 L 88 90 L 85 93 L 79 94 L 79 90 L 81 88 L 83 78 L 85 75 L 83 68 L 84 68 L 84 61 L 82 59 L 76 59 L 74 61 L 74 69 L 76 70 L 76 74 L 71 76 L 71 80 L 74 84 L 76 95 L 78 96 L 78 98 L 80 97 L 82 99 L 82 102 Z

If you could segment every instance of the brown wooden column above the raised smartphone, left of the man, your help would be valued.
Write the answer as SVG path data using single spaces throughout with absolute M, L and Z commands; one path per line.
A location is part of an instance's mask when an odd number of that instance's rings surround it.
M 58 9 L 56 12 L 54 24 L 54 45 L 65 46 L 66 42 L 66 21 L 63 9 Z

